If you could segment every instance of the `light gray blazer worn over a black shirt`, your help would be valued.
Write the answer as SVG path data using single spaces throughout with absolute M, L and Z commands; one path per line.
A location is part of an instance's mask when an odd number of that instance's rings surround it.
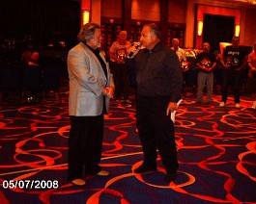
M 70 115 L 95 116 L 102 114 L 102 90 L 105 87 L 114 87 L 114 82 L 104 55 L 100 53 L 100 57 L 107 67 L 107 79 L 98 58 L 83 42 L 78 43 L 69 51 Z M 108 111 L 108 97 L 105 102 Z

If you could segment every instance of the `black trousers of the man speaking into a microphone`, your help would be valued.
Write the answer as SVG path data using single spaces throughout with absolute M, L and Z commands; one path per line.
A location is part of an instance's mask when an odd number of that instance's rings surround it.
M 137 96 L 137 129 L 141 140 L 145 166 L 156 166 L 158 149 L 162 164 L 167 173 L 178 169 L 177 148 L 174 124 L 166 115 L 169 96 Z

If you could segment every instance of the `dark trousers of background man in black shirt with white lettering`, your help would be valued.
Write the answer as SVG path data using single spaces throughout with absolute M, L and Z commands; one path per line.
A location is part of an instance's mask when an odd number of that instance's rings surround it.
M 241 71 L 223 70 L 222 101 L 226 103 L 229 87 L 233 87 L 235 103 L 240 103 Z

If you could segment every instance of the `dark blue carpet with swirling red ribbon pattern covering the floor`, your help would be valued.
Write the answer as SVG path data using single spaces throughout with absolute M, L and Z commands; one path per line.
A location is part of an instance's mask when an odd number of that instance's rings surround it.
M 186 97 L 176 115 L 180 168 L 166 183 L 157 171 L 133 169 L 142 162 L 134 104 L 111 104 L 105 116 L 102 160 L 108 177 L 86 176 L 85 187 L 67 180 L 70 131 L 68 93 L 61 105 L 0 108 L 0 203 L 256 203 L 256 112 L 250 98 L 242 109 L 229 98 L 219 108 Z M 246 100 L 245 100 L 246 99 Z

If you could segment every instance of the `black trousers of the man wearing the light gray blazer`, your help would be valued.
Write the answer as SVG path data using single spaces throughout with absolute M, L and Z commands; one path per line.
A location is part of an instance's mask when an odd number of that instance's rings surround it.
M 103 115 L 71 116 L 68 152 L 68 179 L 82 178 L 100 172 L 103 140 Z

